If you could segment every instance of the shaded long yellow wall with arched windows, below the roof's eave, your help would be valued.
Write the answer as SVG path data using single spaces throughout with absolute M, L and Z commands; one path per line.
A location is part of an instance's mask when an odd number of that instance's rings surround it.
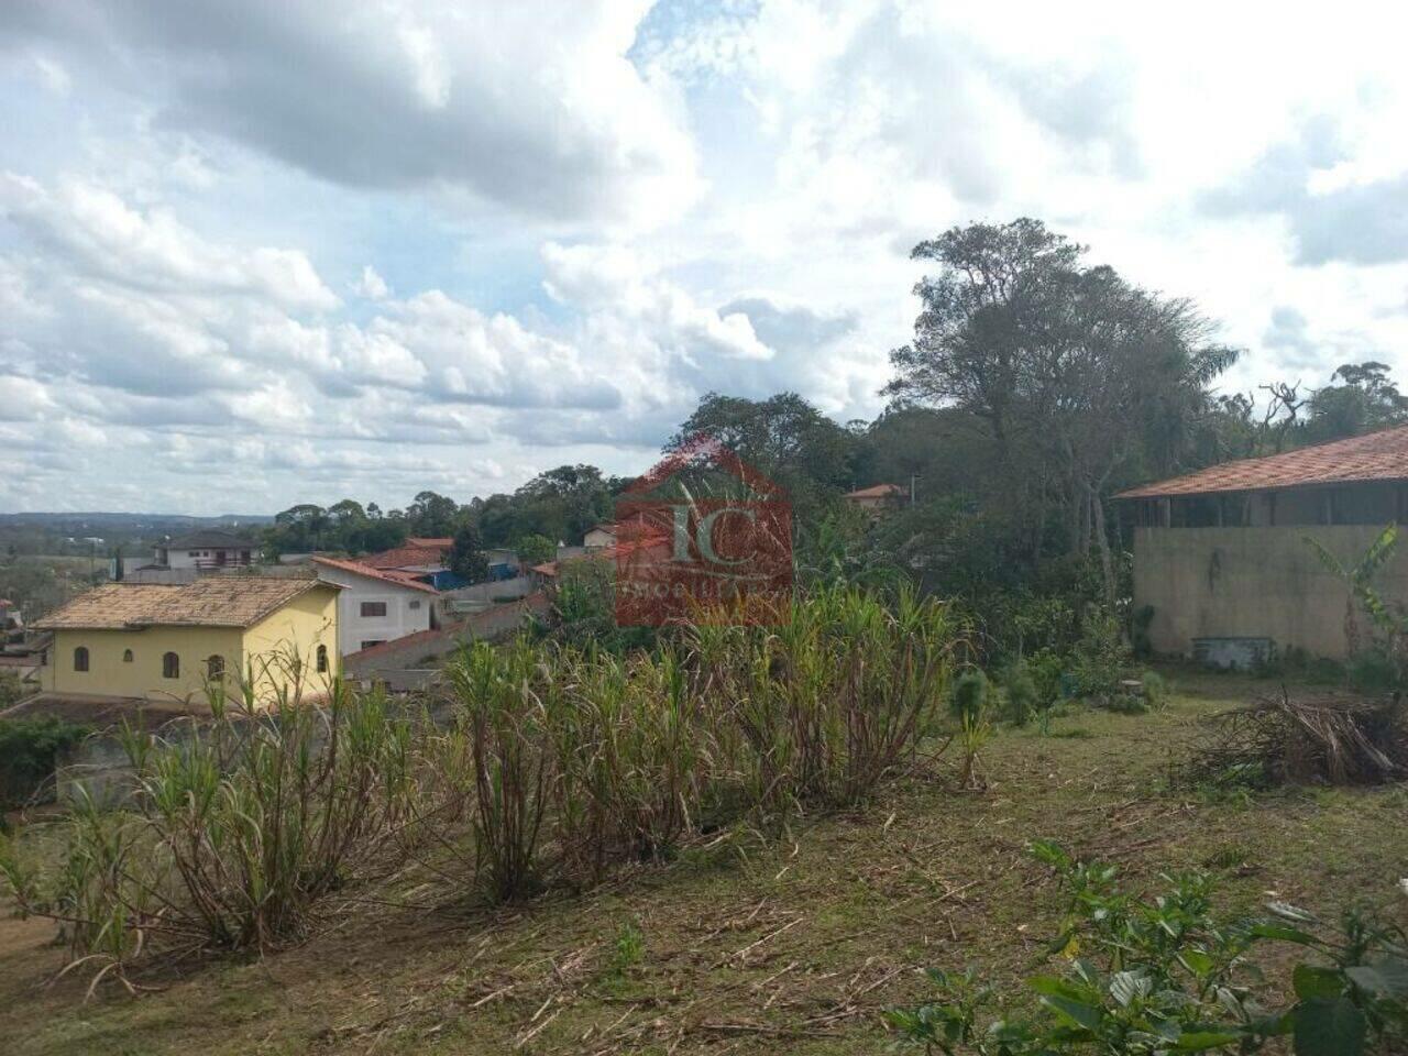
M 73 650 L 86 646 L 89 669 L 73 670 Z M 124 650 L 132 650 L 130 662 Z M 162 676 L 162 658 L 180 658 L 180 677 Z M 241 662 L 237 628 L 148 627 L 141 631 L 59 629 L 54 632 L 49 665 L 41 686 L 51 693 L 89 693 L 106 697 L 199 701 L 206 696 L 206 660 L 221 656 L 234 673 Z

